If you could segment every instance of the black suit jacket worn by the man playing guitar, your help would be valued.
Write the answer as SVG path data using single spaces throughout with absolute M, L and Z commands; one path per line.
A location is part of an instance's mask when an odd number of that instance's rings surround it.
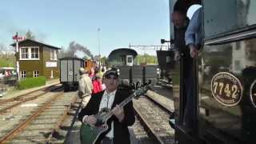
M 100 102 L 102 101 L 103 94 L 104 94 L 104 91 L 98 94 L 92 94 L 90 101 L 88 102 L 86 107 L 83 108 L 81 112 L 78 114 L 78 119 L 80 121 L 82 121 L 82 118 L 85 115 L 92 115 L 92 114 L 98 113 L 99 105 L 100 105 Z M 130 94 L 131 94 L 130 90 L 118 89 L 115 94 L 114 102 L 111 108 L 113 109 L 114 106 L 121 103 Z M 123 108 L 124 108 L 125 117 L 122 120 L 122 122 L 119 122 L 118 118 L 116 118 L 114 115 L 107 121 L 107 125 L 109 127 L 111 126 L 111 122 L 114 121 L 114 144 L 120 144 L 120 143 L 130 144 L 130 134 L 128 131 L 128 126 L 132 126 L 135 122 L 134 107 L 133 107 L 132 101 L 128 102 L 126 106 L 124 106 Z M 108 133 L 109 130 L 107 130 L 106 133 Z

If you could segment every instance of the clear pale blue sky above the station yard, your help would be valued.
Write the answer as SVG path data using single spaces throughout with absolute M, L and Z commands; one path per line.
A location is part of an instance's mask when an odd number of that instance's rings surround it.
M 0 43 L 8 46 L 16 31 L 24 35 L 30 30 L 47 44 L 67 47 L 75 41 L 94 55 L 98 54 L 98 34 L 101 54 L 105 56 L 129 44 L 160 45 L 161 38 L 169 39 L 168 2 L 5 0 L 0 5 Z

